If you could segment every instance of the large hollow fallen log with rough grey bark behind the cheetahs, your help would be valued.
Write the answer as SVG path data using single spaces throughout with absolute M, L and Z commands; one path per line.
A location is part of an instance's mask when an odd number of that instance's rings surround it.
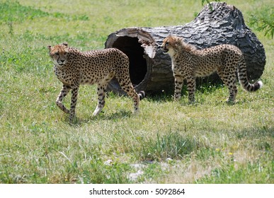
M 159 47 L 168 35 L 183 37 L 185 42 L 198 49 L 220 44 L 236 45 L 244 54 L 249 80 L 261 77 L 266 64 L 265 50 L 245 25 L 241 11 L 226 3 L 210 4 L 185 25 L 124 28 L 108 35 L 105 48 L 116 47 L 129 57 L 130 78 L 137 92 L 173 90 L 171 59 Z M 217 74 L 212 74 L 207 78 L 198 78 L 198 83 L 201 81 L 220 82 L 220 79 Z M 124 94 L 115 79 L 110 81 L 108 90 Z

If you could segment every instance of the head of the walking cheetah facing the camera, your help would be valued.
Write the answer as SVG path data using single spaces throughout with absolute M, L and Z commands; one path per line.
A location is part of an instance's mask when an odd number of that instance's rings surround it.
M 50 50 L 50 57 L 52 57 L 55 66 L 64 66 L 67 63 L 67 53 L 69 51 L 67 42 L 55 45 L 54 47 L 49 45 L 47 48 Z

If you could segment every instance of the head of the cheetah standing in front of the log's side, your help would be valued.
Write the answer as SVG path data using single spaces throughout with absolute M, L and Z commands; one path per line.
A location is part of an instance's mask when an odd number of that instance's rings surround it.
M 169 55 L 173 55 L 176 53 L 176 51 L 178 51 L 178 47 L 181 46 L 181 37 L 176 37 L 173 35 L 169 35 L 167 36 L 164 40 L 163 40 L 163 44 L 161 45 L 161 50 L 163 51 L 164 54 L 169 54 Z

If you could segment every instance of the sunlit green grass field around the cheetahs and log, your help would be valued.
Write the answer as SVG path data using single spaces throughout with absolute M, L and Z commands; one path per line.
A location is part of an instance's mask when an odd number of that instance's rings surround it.
M 272 5 L 227 3 L 248 25 L 254 7 Z M 71 125 L 55 105 L 62 85 L 47 45 L 102 49 L 115 30 L 188 23 L 202 6 L 175 0 L 64 4 L 0 1 L 0 183 L 274 182 L 273 39 L 253 30 L 266 49 L 264 86 L 256 93 L 239 86 L 235 105 L 224 102 L 227 88 L 205 85 L 195 105 L 185 92 L 180 103 L 165 93 L 142 100 L 138 115 L 130 98 L 109 93 L 103 113 L 91 117 L 96 87 L 81 86 Z

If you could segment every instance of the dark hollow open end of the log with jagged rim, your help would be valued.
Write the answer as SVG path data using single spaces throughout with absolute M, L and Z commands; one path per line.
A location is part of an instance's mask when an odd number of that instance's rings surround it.
M 127 31 L 125 34 L 123 30 L 120 30 L 112 34 L 112 39 L 105 42 L 105 48 L 115 47 L 130 59 L 130 80 L 136 91 L 141 91 L 147 86 L 147 81 L 152 74 L 152 58 L 155 54 L 152 45 L 154 40 L 148 38 L 147 35 L 148 33 L 140 32 L 138 28 L 132 28 L 130 33 Z M 108 83 L 108 89 L 125 94 L 115 78 Z

